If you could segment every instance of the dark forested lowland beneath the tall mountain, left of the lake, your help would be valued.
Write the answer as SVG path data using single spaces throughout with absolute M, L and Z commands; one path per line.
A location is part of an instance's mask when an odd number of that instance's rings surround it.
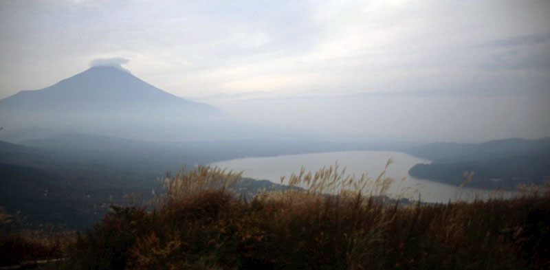
M 0 206 L 20 213 L 14 227 L 62 225 L 84 229 L 98 221 L 111 204 L 129 203 L 128 194 L 145 200 L 162 190 L 166 172 L 179 166 L 260 155 L 348 150 L 356 144 L 234 140 L 168 143 L 100 135 L 65 133 L 24 145 L 0 141 Z M 364 146 L 366 147 L 366 146 Z M 250 199 L 273 183 L 245 179 L 235 189 Z

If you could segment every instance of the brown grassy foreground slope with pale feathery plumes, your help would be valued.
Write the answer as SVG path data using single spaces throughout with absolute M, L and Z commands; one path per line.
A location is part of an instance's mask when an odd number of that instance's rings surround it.
M 199 167 L 166 179 L 153 210 L 113 206 L 57 256 L 56 269 L 549 269 L 550 192 L 510 200 L 399 205 L 354 192 L 338 170 L 300 174 L 309 190 L 225 187 Z M 388 179 L 373 180 L 384 194 Z M 326 195 L 340 183 L 344 191 Z M 327 188 L 328 187 L 328 188 Z M 350 188 L 352 190 L 350 190 Z M 52 258 L 52 257 L 50 257 Z

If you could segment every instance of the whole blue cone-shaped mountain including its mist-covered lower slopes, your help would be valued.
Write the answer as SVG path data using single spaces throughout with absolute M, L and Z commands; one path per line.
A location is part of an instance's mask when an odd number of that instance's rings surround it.
M 98 66 L 0 100 L 0 139 L 55 133 L 132 139 L 228 139 L 229 118 L 214 106 L 162 91 L 116 67 Z

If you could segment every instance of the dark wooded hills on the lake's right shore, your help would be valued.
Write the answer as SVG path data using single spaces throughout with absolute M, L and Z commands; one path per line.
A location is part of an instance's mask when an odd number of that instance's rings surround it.
M 476 188 L 516 188 L 521 183 L 540 185 L 550 179 L 550 137 L 426 144 L 406 152 L 432 160 L 432 164 L 410 168 L 409 175 L 420 179 L 461 185 L 463 172 L 474 172 L 467 185 Z

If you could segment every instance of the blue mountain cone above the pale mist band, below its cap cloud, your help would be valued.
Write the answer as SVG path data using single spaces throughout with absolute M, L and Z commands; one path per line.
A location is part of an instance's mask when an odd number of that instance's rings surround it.
M 0 109 L 85 110 L 170 109 L 192 114 L 220 113 L 214 106 L 191 102 L 149 85 L 129 71 L 91 67 L 65 80 L 34 91 L 21 91 L 0 100 Z

